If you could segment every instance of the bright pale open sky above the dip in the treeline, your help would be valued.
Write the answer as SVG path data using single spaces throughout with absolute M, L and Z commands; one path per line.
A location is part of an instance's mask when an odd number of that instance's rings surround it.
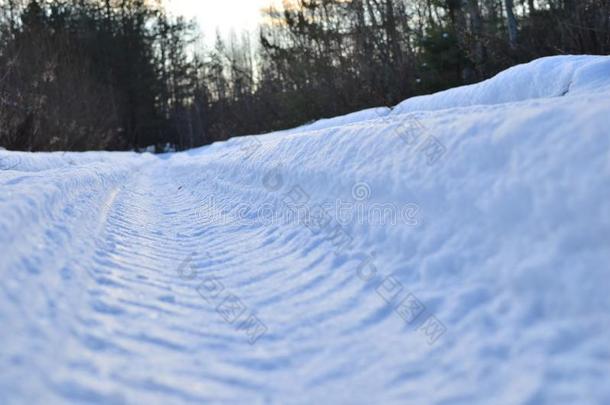
M 231 30 L 254 31 L 261 20 L 261 9 L 278 0 L 165 0 L 174 15 L 199 23 L 205 42 L 211 44 L 218 29 L 223 36 Z

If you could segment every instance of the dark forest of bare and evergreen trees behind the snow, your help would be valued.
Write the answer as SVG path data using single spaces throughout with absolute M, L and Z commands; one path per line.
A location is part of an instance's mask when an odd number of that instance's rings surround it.
M 205 46 L 145 0 L 0 0 L 0 146 L 183 150 L 610 53 L 610 0 L 292 0 Z

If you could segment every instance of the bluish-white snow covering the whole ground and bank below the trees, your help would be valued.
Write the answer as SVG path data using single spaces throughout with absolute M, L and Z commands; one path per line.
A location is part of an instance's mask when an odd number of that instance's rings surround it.
M 182 153 L 0 150 L 2 402 L 609 403 L 609 66 Z

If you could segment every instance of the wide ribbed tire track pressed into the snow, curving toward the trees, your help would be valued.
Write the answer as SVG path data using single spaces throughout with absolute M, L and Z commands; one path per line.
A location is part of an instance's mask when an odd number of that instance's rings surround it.
M 76 199 L 72 210 L 81 216 L 69 219 L 63 212 L 57 218 L 66 220 L 72 247 L 56 252 L 68 256 L 66 263 L 45 266 L 46 272 L 57 272 L 58 281 L 31 291 L 63 291 L 49 296 L 51 306 L 62 302 L 58 328 L 40 326 L 46 348 L 38 356 L 32 349 L 24 353 L 39 362 L 34 367 L 42 373 L 38 391 L 51 390 L 64 401 L 251 397 L 263 403 L 269 393 L 289 398 L 354 374 L 332 353 L 363 350 L 361 343 L 353 344 L 353 330 L 371 333 L 388 323 L 391 311 L 380 310 L 370 293 L 361 293 L 348 263 L 330 250 L 315 249 L 322 241 L 306 229 L 247 218 L 202 221 L 202 197 L 214 194 L 236 206 L 243 203 L 236 197 L 242 185 L 211 176 L 193 191 L 187 169 L 155 161 L 120 184 L 106 184 L 98 211 L 91 211 L 91 200 Z M 248 195 L 256 187 L 241 192 Z M 74 192 L 88 188 L 82 183 Z M 71 256 L 80 262 L 71 263 Z M 192 280 L 178 274 L 187 258 L 196 272 Z M 223 319 L 218 302 L 202 298 L 197 288 L 208 276 L 268 325 L 256 346 Z M 24 305 L 15 299 L 16 306 Z M 356 372 L 363 379 L 373 372 L 367 358 Z M 286 372 L 297 365 L 309 371 L 295 386 Z M 54 372 L 44 374 L 50 367 Z M 316 368 L 334 370 L 333 376 L 312 373 Z

